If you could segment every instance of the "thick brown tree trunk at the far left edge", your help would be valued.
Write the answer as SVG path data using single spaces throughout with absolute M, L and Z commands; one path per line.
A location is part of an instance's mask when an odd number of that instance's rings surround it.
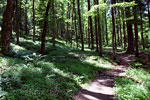
M 12 19 L 15 10 L 15 0 L 7 0 L 7 6 L 3 14 L 1 31 L 1 53 L 5 54 L 10 49 L 10 36 L 12 34 Z

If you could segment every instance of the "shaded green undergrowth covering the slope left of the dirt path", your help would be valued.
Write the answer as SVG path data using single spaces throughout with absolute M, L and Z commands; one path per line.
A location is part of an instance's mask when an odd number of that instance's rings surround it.
M 40 42 L 21 39 L 20 46 L 12 43 L 12 51 L 0 55 L 1 100 L 70 100 L 98 70 L 114 67 L 95 51 L 83 53 L 60 40 L 56 44 L 47 43 L 41 56 Z

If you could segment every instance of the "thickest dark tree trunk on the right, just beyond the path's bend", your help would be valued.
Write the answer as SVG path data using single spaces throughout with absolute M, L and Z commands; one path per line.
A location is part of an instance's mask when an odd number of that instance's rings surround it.
M 126 0 L 128 1 L 128 0 Z M 130 8 L 126 8 L 126 18 L 131 17 L 130 14 Z M 130 20 L 127 20 L 127 32 L 128 32 L 128 47 L 127 47 L 127 53 L 132 54 L 134 52 L 134 37 L 133 37 L 133 31 L 132 31 L 132 23 Z

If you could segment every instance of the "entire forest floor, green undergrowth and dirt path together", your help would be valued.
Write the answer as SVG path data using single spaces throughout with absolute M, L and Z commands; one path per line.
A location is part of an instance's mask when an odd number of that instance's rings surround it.
M 0 100 L 150 100 L 150 55 L 118 51 L 115 62 L 110 47 L 99 57 L 87 45 L 82 52 L 50 42 L 45 56 L 30 38 L 0 55 Z

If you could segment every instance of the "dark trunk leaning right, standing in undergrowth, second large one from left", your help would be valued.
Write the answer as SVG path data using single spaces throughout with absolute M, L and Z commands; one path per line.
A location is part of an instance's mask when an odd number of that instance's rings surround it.
M 43 26 L 43 32 L 41 37 L 41 54 L 45 54 L 45 39 L 46 39 L 46 32 L 47 32 L 47 26 L 48 26 L 48 12 L 50 9 L 50 0 L 48 1 L 46 11 L 45 11 L 45 19 L 44 19 L 44 26 Z

